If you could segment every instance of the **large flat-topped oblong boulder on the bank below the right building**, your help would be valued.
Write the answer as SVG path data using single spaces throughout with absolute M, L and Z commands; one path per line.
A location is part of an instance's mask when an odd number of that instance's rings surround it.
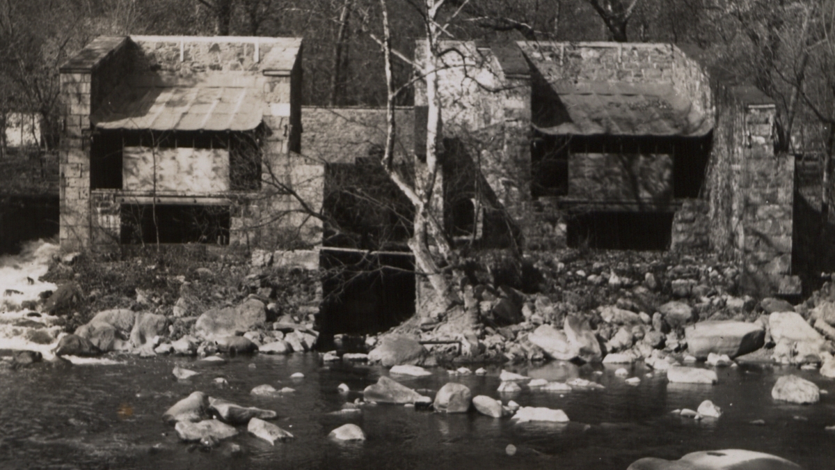
M 741 321 L 703 321 L 687 326 L 684 333 L 690 354 L 700 359 L 711 353 L 729 357 L 748 354 L 766 341 L 762 324 Z

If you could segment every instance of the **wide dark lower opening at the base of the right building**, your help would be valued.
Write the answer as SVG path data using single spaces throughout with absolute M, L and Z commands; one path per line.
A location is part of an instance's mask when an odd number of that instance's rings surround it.
M 568 218 L 571 248 L 665 250 L 673 212 L 588 212 Z

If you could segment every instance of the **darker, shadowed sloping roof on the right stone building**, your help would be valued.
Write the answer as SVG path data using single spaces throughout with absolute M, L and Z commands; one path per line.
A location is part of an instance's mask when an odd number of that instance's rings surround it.
M 710 117 L 671 84 L 550 84 L 534 128 L 550 135 L 701 136 Z M 535 113 L 534 113 L 535 114 Z

